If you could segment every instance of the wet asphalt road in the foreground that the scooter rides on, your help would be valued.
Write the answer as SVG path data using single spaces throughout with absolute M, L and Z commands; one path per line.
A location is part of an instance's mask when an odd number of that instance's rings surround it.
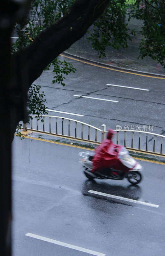
M 164 256 L 164 165 L 141 161 L 139 186 L 126 179 L 89 181 L 79 151 L 85 150 L 14 138 L 12 255 L 94 255 L 26 236 L 31 233 L 101 256 Z M 159 207 L 93 195 L 90 189 Z

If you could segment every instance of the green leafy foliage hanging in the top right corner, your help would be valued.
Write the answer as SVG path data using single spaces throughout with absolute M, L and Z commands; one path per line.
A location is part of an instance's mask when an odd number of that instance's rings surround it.
M 140 32 L 144 39 L 139 46 L 139 57 L 149 56 L 165 68 L 165 1 L 137 0 L 129 16 L 143 20 Z

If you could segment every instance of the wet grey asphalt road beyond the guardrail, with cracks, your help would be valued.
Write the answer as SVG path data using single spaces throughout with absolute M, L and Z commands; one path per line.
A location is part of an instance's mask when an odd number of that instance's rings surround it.
M 62 56 L 60 59 L 69 61 L 77 69 L 75 74 L 66 76 L 65 87 L 52 84 L 54 73 L 51 69 L 44 71 L 34 84 L 41 85 L 41 90 L 46 94 L 48 108 L 83 116 L 49 112 L 50 115 L 76 119 L 97 128 L 101 128 L 102 124 L 112 129 L 116 129 L 117 124 L 123 128 L 124 125 L 129 125 L 129 129 L 131 125 L 151 125 L 154 126 L 151 132 L 164 134 L 164 79 L 95 67 Z M 118 102 L 81 98 L 74 95 Z

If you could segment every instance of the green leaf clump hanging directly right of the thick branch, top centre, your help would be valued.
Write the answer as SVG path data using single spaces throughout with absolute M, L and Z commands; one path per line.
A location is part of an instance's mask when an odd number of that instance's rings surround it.
M 120 46 L 128 47 L 127 40 L 131 40 L 130 34 L 134 35 L 135 31 L 127 28 L 128 24 L 124 22 L 125 15 L 125 0 L 112 0 L 101 17 L 94 22 L 87 39 L 92 41 L 99 58 L 101 55 L 105 56 L 107 46 L 113 46 L 115 49 L 119 49 Z

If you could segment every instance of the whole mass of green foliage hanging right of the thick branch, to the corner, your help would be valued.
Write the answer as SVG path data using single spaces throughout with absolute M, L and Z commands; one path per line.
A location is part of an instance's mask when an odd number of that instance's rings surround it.
M 119 49 L 126 48 L 127 40 L 135 36 L 135 29 L 130 30 L 125 23 L 126 14 L 131 19 L 142 20 L 140 33 L 144 36 L 139 46 L 139 58 L 149 56 L 157 60 L 165 68 L 165 1 L 164 0 L 112 0 L 94 22 L 89 31 L 88 40 L 93 48 L 105 56 L 107 46 Z

